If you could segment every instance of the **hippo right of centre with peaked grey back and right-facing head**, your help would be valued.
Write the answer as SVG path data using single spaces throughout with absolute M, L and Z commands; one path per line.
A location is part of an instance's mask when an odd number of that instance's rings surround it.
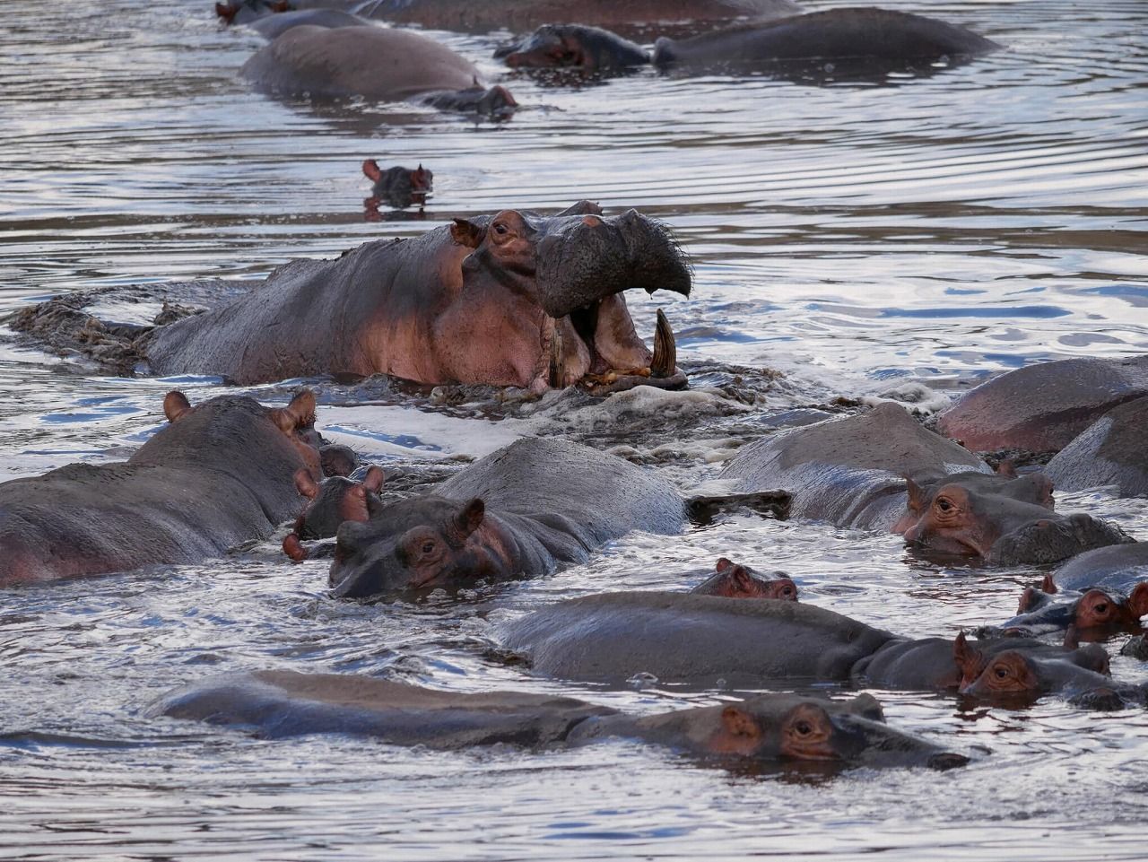
M 992 474 L 892 403 L 765 437 L 722 476 L 740 490 L 794 489 L 794 517 L 892 530 L 923 552 L 999 565 L 1055 562 L 1131 541 L 1104 521 L 1054 513 L 1047 479 Z

